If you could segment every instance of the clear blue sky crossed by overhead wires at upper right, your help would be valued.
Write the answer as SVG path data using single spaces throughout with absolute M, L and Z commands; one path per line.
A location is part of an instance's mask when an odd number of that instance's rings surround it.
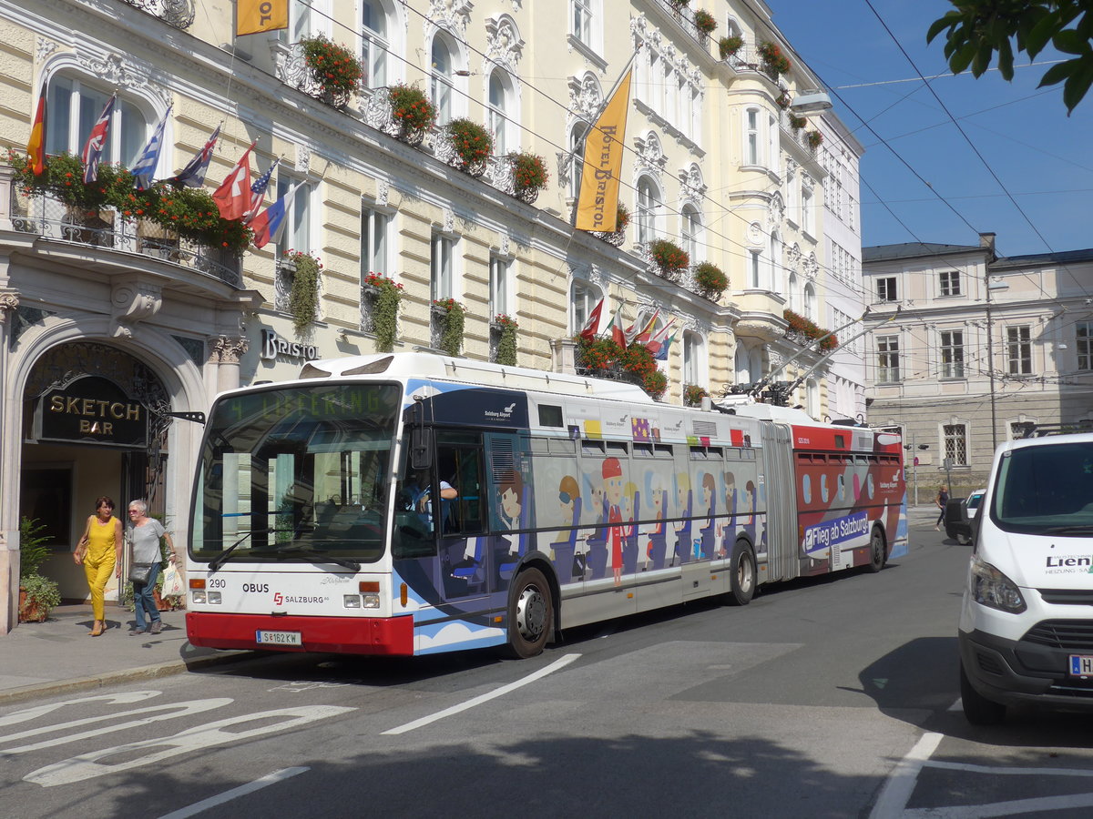
M 1004 256 L 1093 247 L 1093 93 L 1067 117 L 1061 85 L 1037 90 L 1048 67 L 1025 68 L 1024 55 L 1015 60 L 1012 83 L 997 71 L 978 80 L 969 72 L 930 80 L 1011 201 L 900 51 L 903 46 L 927 78 L 947 73 L 942 39 L 927 46 L 926 32 L 950 3 L 872 0 L 898 46 L 865 0 L 767 4 L 783 34 L 833 90 L 836 111 L 866 147 L 862 245 L 976 245 L 978 232 L 994 232 Z M 1037 62 L 1054 59 L 1058 55 L 1045 51 Z

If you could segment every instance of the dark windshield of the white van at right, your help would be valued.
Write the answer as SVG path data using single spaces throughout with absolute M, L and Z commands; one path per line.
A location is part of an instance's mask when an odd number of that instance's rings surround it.
M 1004 453 L 990 517 L 1007 532 L 1093 535 L 1093 441 Z

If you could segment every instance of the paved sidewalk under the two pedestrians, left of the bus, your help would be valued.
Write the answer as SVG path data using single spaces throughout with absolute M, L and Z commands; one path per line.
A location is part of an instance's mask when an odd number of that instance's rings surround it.
M 254 656 L 195 648 L 186 639 L 186 612 L 160 614 L 158 634 L 130 636 L 133 615 L 120 606 L 106 607 L 109 628 L 101 637 L 87 636 L 91 604 L 58 606 L 46 622 L 21 622 L 0 634 L 0 705 Z

